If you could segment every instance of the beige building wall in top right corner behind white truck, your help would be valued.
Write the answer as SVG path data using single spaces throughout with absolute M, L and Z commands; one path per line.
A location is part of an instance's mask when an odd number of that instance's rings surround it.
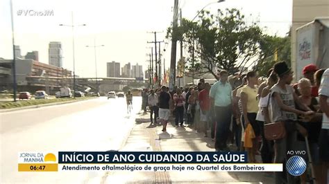
M 329 17 L 328 0 L 292 1 L 292 70 L 296 71 L 296 29 L 313 21 L 316 17 Z M 328 49 L 327 49 L 328 52 Z M 295 75 L 296 76 L 296 75 Z M 298 80 L 298 79 L 297 79 Z

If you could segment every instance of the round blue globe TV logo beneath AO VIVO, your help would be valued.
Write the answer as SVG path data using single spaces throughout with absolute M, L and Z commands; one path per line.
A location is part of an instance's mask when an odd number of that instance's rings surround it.
M 306 170 L 306 162 L 301 156 L 292 156 L 287 161 L 287 171 L 292 176 L 301 176 Z

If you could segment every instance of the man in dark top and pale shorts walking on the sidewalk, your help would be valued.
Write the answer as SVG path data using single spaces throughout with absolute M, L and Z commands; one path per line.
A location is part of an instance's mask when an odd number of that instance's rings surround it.
M 159 120 L 162 122 L 162 131 L 167 131 L 167 123 L 169 119 L 169 101 L 171 100 L 171 97 L 169 93 L 167 92 L 167 87 L 162 86 L 161 87 L 161 93 L 159 96 Z

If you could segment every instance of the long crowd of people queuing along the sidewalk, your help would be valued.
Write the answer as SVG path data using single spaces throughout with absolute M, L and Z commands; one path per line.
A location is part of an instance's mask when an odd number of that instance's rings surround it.
M 255 71 L 230 79 L 227 71 L 220 71 L 219 80 L 212 85 L 201 79 L 188 89 L 174 87 L 169 91 L 162 86 L 151 89 L 150 94 L 144 89 L 142 109 L 146 112 L 149 106 L 151 124 L 160 122 L 162 131 L 167 131 L 169 116 L 175 117 L 176 127 L 188 125 L 205 137 L 210 130 L 216 151 L 247 151 L 249 163 L 257 163 L 255 156 L 260 155 L 262 163 L 285 165 L 287 151 L 306 150 L 306 138 L 317 183 L 327 183 L 329 69 L 310 64 L 302 72 L 304 77 L 291 84 L 291 68 L 278 62 L 258 84 Z M 264 126 L 278 121 L 284 122 L 286 136 L 267 140 Z M 230 143 L 235 143 L 237 150 L 230 150 Z M 296 181 L 286 171 L 276 172 L 275 178 L 276 183 Z M 305 174 L 299 179 L 301 183 L 307 181 Z

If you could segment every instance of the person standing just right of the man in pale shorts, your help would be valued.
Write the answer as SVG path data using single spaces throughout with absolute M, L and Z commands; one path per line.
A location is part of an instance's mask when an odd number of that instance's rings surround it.
M 184 123 L 183 118 L 184 118 L 185 98 L 181 93 L 182 91 L 180 89 L 177 89 L 176 93 L 174 94 L 174 103 L 175 103 L 174 111 L 176 111 L 175 123 L 177 127 L 178 127 L 178 122 L 180 122 L 180 127 L 183 127 L 183 123 Z

